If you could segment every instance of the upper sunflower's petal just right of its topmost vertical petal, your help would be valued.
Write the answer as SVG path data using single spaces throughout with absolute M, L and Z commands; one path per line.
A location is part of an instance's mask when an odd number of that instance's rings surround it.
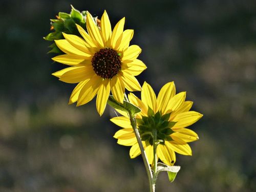
M 111 36 L 111 47 L 116 49 L 120 45 L 120 39 L 122 39 L 123 26 L 125 22 L 125 17 L 123 17 L 113 29 Z M 119 45 L 118 45 L 119 44 Z

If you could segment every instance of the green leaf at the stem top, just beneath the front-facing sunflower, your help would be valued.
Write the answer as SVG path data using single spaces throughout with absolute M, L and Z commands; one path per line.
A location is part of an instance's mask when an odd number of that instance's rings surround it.
M 126 113 L 131 113 L 133 116 L 136 114 L 136 113 L 139 113 L 141 112 L 141 110 L 133 105 L 132 103 L 130 102 L 127 102 L 127 101 L 123 101 L 123 104 L 122 103 L 119 103 L 118 101 L 116 101 L 113 97 L 113 95 L 110 95 L 109 96 L 109 99 L 108 99 L 108 102 L 107 102 L 110 106 L 112 106 L 113 108 L 115 109 L 118 109 L 118 110 L 121 110 L 121 111 L 124 111 Z

